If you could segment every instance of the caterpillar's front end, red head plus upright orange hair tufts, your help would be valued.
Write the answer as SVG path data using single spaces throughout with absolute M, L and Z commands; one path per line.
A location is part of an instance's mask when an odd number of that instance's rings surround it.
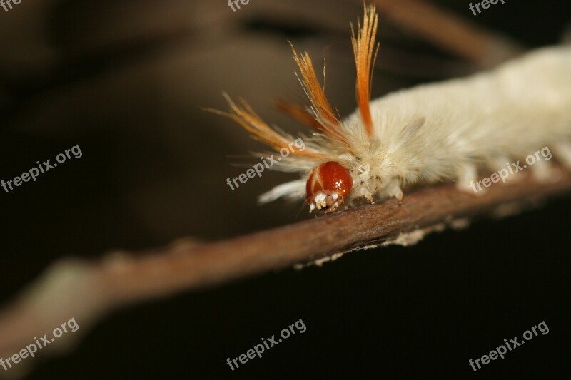
M 318 80 L 308 53 L 298 54 L 293 45 L 291 46 L 293 59 L 298 64 L 300 71 L 300 83 L 310 100 L 310 106 L 283 101 L 278 103 L 278 108 L 312 128 L 314 138 L 309 138 L 310 145 L 307 148 L 304 144 L 303 150 L 295 151 L 295 154 L 288 158 L 285 162 L 287 167 L 284 167 L 283 170 L 297 171 L 300 175 L 305 176 L 309 163 L 320 163 L 310 171 L 305 186 L 305 199 L 308 202 L 310 212 L 318 210 L 327 213 L 338 210 L 344 200 L 350 196 L 354 180 L 357 181 L 357 185 L 353 192 L 358 193 L 358 197 L 365 197 L 370 202 L 373 201 L 372 195 L 373 191 L 376 190 L 378 181 L 371 179 L 373 177 L 368 168 L 365 168 L 366 170 L 363 172 L 361 165 L 354 163 L 355 160 L 342 158 L 341 155 L 345 152 L 350 152 L 351 155 L 355 153 L 355 135 L 358 138 L 365 138 L 367 143 L 376 141 L 370 110 L 370 89 L 373 67 L 379 47 L 375 43 L 377 26 L 378 16 L 373 5 L 365 6 L 363 22 L 358 21 L 356 31 L 351 26 L 351 43 L 357 71 L 355 95 L 360 117 L 360 121 L 355 127 L 356 130 L 353 127 L 347 127 L 339 113 L 334 112 L 335 108 L 330 105 L 325 96 L 325 88 L 321 86 Z M 265 123 L 243 99 L 241 99 L 241 105 L 236 105 L 226 94 L 224 96 L 231 111 L 224 113 L 213 110 L 214 112 L 233 119 L 248 131 L 252 138 L 265 143 L 276 151 L 281 152 L 285 146 L 291 148 L 291 135 Z M 316 135 L 318 137 L 315 137 Z M 288 145 L 288 143 L 290 144 Z M 332 158 L 334 161 L 324 162 Z M 355 175 L 354 179 L 352 173 Z M 294 199 L 303 197 L 302 181 L 298 180 L 276 186 L 270 192 L 262 195 L 261 202 L 276 200 L 278 197 Z

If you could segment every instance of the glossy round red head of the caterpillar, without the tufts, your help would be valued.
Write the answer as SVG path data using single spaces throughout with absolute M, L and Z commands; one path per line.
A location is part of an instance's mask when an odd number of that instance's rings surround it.
M 306 190 L 306 200 L 310 212 L 324 210 L 337 211 L 343 199 L 353 188 L 353 178 L 349 170 L 340 163 L 328 161 L 313 168 L 309 174 Z

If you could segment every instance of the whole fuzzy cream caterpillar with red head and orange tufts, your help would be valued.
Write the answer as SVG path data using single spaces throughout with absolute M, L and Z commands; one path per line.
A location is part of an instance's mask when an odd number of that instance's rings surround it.
M 300 135 L 306 149 L 273 167 L 297 172 L 300 179 L 264 193 L 261 203 L 305 198 L 310 212 L 327 213 L 360 201 L 395 197 L 402 202 L 408 185 L 445 181 L 474 194 L 480 173 L 497 171 L 544 145 L 571 168 L 570 46 L 539 48 L 490 71 L 370 101 L 377 27 L 372 5 L 365 6 L 356 34 L 351 25 L 358 107 L 346 118 L 333 112 L 308 53 L 298 53 L 290 43 L 311 105 L 282 102 L 280 108 L 313 133 Z M 255 140 L 276 151 L 293 140 L 266 124 L 245 100 L 236 104 L 224 96 L 230 111 L 218 113 Z M 532 173 L 545 180 L 549 170 L 544 160 Z

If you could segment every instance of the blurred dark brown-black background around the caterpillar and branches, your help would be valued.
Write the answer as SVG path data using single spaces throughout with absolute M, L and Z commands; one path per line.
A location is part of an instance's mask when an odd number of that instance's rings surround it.
M 437 3 L 530 48 L 557 43 L 571 21 L 562 0 L 507 0 L 478 16 L 468 1 Z M 35 183 L 0 191 L 0 300 L 60 257 L 182 236 L 216 240 L 307 218 L 298 204 L 256 205 L 291 175 L 265 172 L 228 188 L 226 178 L 244 169 L 226 155 L 261 145 L 201 107 L 226 109 L 227 91 L 299 130 L 271 108 L 280 96 L 303 99 L 289 39 L 316 66 L 325 57 L 328 96 L 347 115 L 355 108 L 348 24 L 361 14 L 358 1 L 341 0 L 251 0 L 236 13 L 211 0 L 24 0 L 0 9 L 0 179 L 76 144 L 83 152 Z M 383 14 L 379 38 L 373 97 L 470 71 Z M 415 54 L 450 64 L 424 69 Z M 353 252 L 128 307 L 68 356 L 36 359 L 29 378 L 567 379 L 570 213 L 571 199 L 561 198 L 414 247 Z M 305 333 L 236 371 L 226 365 L 298 319 Z M 549 334 L 476 373 L 468 366 L 542 321 Z

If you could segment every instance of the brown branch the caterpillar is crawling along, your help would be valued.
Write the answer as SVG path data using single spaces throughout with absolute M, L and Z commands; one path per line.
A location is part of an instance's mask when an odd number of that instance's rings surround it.
M 475 197 L 454 185 L 423 188 L 395 200 L 297 222 L 221 242 L 180 240 L 147 252 L 111 252 L 96 262 L 62 260 L 7 305 L 0 314 L 0 357 L 10 357 L 71 318 L 78 332 L 57 339 L 46 353 L 77 341 L 104 314 L 133 302 L 200 289 L 233 279 L 291 267 L 380 242 L 415 242 L 430 227 L 490 212 L 521 210 L 530 202 L 571 190 L 571 175 L 560 170 L 556 183 L 540 184 L 530 175 L 515 185 L 492 184 Z M 525 175 L 525 174 L 522 174 Z M 43 354 L 44 352 L 42 352 Z M 26 359 L 14 375 L 34 359 Z

